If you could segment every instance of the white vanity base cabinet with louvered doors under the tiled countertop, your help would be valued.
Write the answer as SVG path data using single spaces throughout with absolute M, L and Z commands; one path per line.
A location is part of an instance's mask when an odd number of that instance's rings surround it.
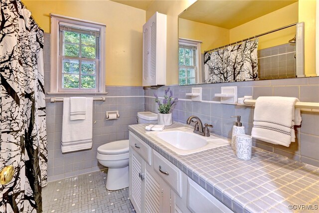
M 137 213 L 232 212 L 130 132 L 129 196 Z

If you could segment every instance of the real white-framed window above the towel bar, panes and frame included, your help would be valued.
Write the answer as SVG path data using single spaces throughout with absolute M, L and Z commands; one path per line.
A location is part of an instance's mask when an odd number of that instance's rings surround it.
M 105 24 L 51 14 L 50 93 L 105 92 Z

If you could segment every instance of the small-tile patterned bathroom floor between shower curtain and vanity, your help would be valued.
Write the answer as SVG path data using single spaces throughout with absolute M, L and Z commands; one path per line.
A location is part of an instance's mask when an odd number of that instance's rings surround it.
M 129 188 L 108 191 L 106 170 L 50 182 L 42 190 L 43 213 L 135 213 Z

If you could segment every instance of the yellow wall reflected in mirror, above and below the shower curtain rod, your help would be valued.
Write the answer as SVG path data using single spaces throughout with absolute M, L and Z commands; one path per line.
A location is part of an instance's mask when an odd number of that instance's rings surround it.
M 298 22 L 298 2 L 230 29 L 230 43 Z M 292 26 L 259 37 L 258 49 L 287 43 L 296 34 Z

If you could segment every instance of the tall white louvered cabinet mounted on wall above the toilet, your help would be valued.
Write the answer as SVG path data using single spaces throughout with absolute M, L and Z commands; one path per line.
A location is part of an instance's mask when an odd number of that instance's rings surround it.
M 156 12 L 143 25 L 143 86 L 166 84 L 166 15 Z

